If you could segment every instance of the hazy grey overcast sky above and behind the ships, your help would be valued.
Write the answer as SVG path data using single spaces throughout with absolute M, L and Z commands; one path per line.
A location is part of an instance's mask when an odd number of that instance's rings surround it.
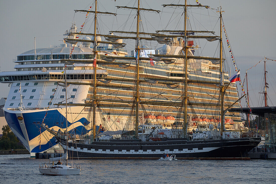
M 0 1 L 0 33 L 2 35 L 0 45 L 0 67 L 2 71 L 14 71 L 12 59 L 16 59 L 18 54 L 34 48 L 34 37 L 36 36 L 36 48 L 59 45 L 71 22 L 76 21 L 78 28 L 85 20 L 85 14 L 75 13 L 75 9 L 87 9 L 93 5 L 89 1 Z M 136 30 L 135 13 L 128 10 L 117 9 L 115 6 L 136 6 L 135 0 L 98 0 L 99 11 L 116 12 L 114 16 L 99 16 L 99 33 L 108 34 L 109 30 Z M 222 6 L 224 25 L 227 30 L 233 54 L 238 68 L 241 69 L 241 79 L 245 76 L 245 70 L 259 62 L 264 56 L 276 60 L 276 36 L 275 36 L 275 7 L 276 1 L 218 1 L 200 0 L 203 5 L 212 8 Z M 161 29 L 183 29 L 183 19 L 181 10 L 173 8 L 163 8 L 161 4 L 184 4 L 184 1 L 170 0 L 141 0 L 141 6 L 161 10 L 160 14 L 142 13 L 144 31 L 154 32 Z M 135 5 L 134 5 L 135 4 Z M 188 0 L 188 4 L 196 4 L 193 0 Z M 172 12 L 178 12 L 178 16 Z M 188 12 L 191 12 L 189 10 Z M 218 14 L 210 9 L 193 9 L 193 14 L 189 13 L 190 27 L 197 30 L 215 30 L 218 32 Z M 183 17 L 183 16 L 182 16 Z M 92 32 L 92 14 L 88 17 L 86 31 Z M 169 23 L 168 23 L 169 22 Z M 199 23 L 200 22 L 200 23 Z M 90 27 L 90 28 L 89 28 Z M 223 36 L 225 37 L 224 33 Z M 198 43 L 203 56 L 214 55 L 216 43 Z M 131 50 L 131 42 L 127 49 Z M 156 45 L 149 45 L 156 48 Z M 227 50 L 227 47 L 225 47 Z M 217 52 L 216 52 L 217 54 Z M 230 61 L 230 58 L 229 58 Z M 231 67 L 231 63 L 229 64 Z M 263 62 L 248 71 L 248 82 L 251 106 L 263 106 L 260 85 L 263 79 Z M 267 61 L 269 78 L 269 106 L 276 104 L 276 62 Z M 7 97 L 9 92 L 8 84 L 0 84 L 0 97 Z M 240 90 L 239 86 L 238 89 Z M 240 93 L 241 91 L 239 91 Z

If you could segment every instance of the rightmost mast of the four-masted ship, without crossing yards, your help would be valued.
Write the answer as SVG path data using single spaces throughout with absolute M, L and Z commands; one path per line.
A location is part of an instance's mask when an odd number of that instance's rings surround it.
M 219 36 L 219 58 L 220 58 L 220 73 L 221 73 L 221 84 L 220 84 L 220 87 L 221 87 L 221 135 L 222 135 L 222 132 L 223 132 L 223 126 L 224 126 L 224 73 L 222 71 L 223 69 L 223 66 L 222 66 L 222 15 L 221 15 L 221 7 L 220 7 L 220 11 L 219 11 L 219 14 L 220 14 L 220 36 Z

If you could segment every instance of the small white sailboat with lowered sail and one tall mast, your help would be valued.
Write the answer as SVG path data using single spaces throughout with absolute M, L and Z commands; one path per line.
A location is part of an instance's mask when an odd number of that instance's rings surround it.
M 64 69 L 64 74 L 66 76 L 66 65 L 65 65 L 65 69 Z M 68 165 L 68 154 L 67 154 L 67 150 L 68 150 L 68 120 L 67 120 L 67 82 L 66 82 L 66 78 L 65 78 L 65 103 L 66 103 L 66 152 L 62 157 L 56 157 L 56 158 L 50 158 L 50 161 L 52 161 L 52 166 L 49 165 L 44 165 L 41 166 L 39 165 L 39 172 L 41 172 L 42 174 L 49 174 L 49 175 L 79 175 L 81 174 L 81 168 L 79 167 L 71 167 L 70 165 Z M 48 128 L 45 126 L 44 123 L 41 124 L 42 127 L 44 128 Z M 62 160 L 66 160 L 66 165 L 62 164 Z M 59 161 L 57 164 L 54 165 L 55 161 Z

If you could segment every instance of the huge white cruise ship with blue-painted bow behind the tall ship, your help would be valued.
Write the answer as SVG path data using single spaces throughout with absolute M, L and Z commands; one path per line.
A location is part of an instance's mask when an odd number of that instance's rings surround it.
M 76 25 L 72 24 L 68 33 L 76 32 Z M 69 34 L 70 35 L 70 34 Z M 72 35 L 70 35 L 72 36 Z M 93 40 L 88 36 L 84 40 Z M 104 36 L 97 36 L 97 40 L 105 39 Z M 183 55 L 182 38 L 172 38 L 167 44 L 157 49 L 150 49 L 143 46 L 143 54 L 169 54 Z M 197 46 L 193 41 L 189 41 L 188 56 L 193 56 Z M 41 129 L 41 123 L 44 122 L 49 129 L 64 132 L 66 128 L 66 110 L 65 106 L 65 88 L 62 85 L 65 76 L 65 65 L 63 59 L 69 59 L 72 47 L 74 50 L 71 59 L 89 60 L 94 58 L 93 48 L 90 43 L 83 42 L 73 45 L 72 43 L 61 43 L 60 46 L 51 46 L 48 48 L 38 48 L 26 51 L 17 56 L 15 59 L 15 71 L 1 72 L 0 82 L 9 83 L 10 91 L 7 96 L 6 104 L 3 108 L 5 118 L 11 130 L 17 138 L 31 153 L 57 149 L 54 136 L 49 132 Z M 135 57 L 134 51 L 126 51 L 123 48 L 115 49 L 112 45 L 103 44 L 98 46 L 97 62 L 97 98 L 102 99 L 102 106 L 97 108 L 96 125 L 97 129 L 105 130 L 123 130 L 131 111 L 133 101 L 133 78 L 135 76 L 135 59 L 129 60 L 117 59 L 122 64 L 101 64 L 101 58 L 104 56 L 127 56 Z M 148 60 L 143 61 L 139 67 L 141 78 L 140 92 L 143 94 L 140 98 L 154 99 L 156 101 L 181 102 L 182 84 L 179 81 L 183 79 L 184 59 L 176 59 L 171 64 L 164 64 L 164 61 L 150 63 Z M 219 65 L 204 59 L 188 59 L 188 77 L 189 80 L 198 81 L 219 81 Z M 68 132 L 81 134 L 82 132 L 91 131 L 91 108 L 86 102 L 92 98 L 92 85 L 79 85 L 74 82 L 91 83 L 93 81 L 92 64 L 67 65 L 66 79 L 67 102 L 68 102 Z M 159 78 L 159 82 L 153 81 L 152 78 Z M 110 80 L 116 78 L 116 80 Z M 124 81 L 120 81 L 120 78 Z M 151 78 L 151 79 L 148 79 Z M 168 80 L 168 78 L 173 79 Z M 225 80 L 228 80 L 229 74 L 225 72 Z M 129 82 L 126 82 L 129 79 Z M 165 82 L 161 82 L 164 79 Z M 71 83 L 70 83 L 71 82 Z M 108 83 L 108 84 L 107 84 Z M 126 87 L 129 85 L 129 87 Z M 193 83 L 188 86 L 190 103 L 217 103 L 219 98 L 219 87 L 208 85 L 208 83 Z M 238 99 L 238 92 L 235 84 L 230 84 L 227 88 L 227 99 L 232 104 Z M 104 101 L 107 99 L 106 101 Z M 112 102 L 113 100 L 113 102 Z M 130 101 L 129 106 L 116 105 L 118 100 Z M 60 104 L 60 105 L 59 105 Z M 76 105 L 78 104 L 78 105 Z M 79 106 L 83 104 L 83 106 Z M 91 103 L 90 103 L 91 104 Z M 173 104 L 173 103 L 172 103 Z M 141 106 L 141 105 L 140 105 Z M 234 107 L 238 107 L 235 105 Z M 197 127 L 195 119 L 200 120 L 201 128 L 208 128 L 210 121 L 214 121 L 213 116 L 218 107 L 197 106 L 195 109 L 188 107 L 189 127 L 191 132 Z M 174 105 L 154 105 L 144 103 L 143 111 L 139 114 L 139 123 L 144 124 L 146 119 L 152 119 L 153 124 L 161 124 L 168 131 L 172 127 L 177 116 L 178 107 Z M 104 117 L 104 121 L 103 118 Z M 237 129 L 243 127 L 238 113 L 227 112 L 225 115 L 225 127 L 228 129 Z M 235 123 L 233 123 L 233 120 Z M 219 122 L 219 120 L 216 120 Z M 88 123 L 87 123 L 88 122 Z M 104 128 L 102 128 L 105 124 Z M 84 131 L 84 128 L 87 130 Z M 243 127 L 244 128 L 244 127 Z M 242 129 L 243 129 L 242 128 Z M 99 130 L 100 131 L 100 130 Z

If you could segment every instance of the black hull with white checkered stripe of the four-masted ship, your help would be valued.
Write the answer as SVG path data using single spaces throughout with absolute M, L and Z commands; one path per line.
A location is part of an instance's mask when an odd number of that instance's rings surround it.
M 66 140 L 59 139 L 64 151 Z M 177 159 L 247 157 L 261 138 L 187 141 L 168 139 L 142 142 L 140 140 L 96 141 L 91 144 L 68 143 L 68 157 L 83 159 L 158 159 L 175 154 Z

